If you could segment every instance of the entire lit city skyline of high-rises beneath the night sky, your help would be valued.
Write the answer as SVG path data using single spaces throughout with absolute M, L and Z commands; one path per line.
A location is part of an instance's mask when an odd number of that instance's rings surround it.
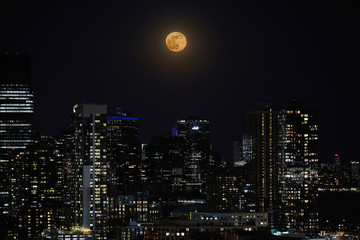
M 247 112 L 242 142 L 234 142 L 233 158 L 223 159 L 211 141 L 211 121 L 197 116 L 178 119 L 171 135 L 141 142 L 137 116 L 75 104 L 67 131 L 39 134 L 29 58 L 1 54 L 0 63 L 2 238 L 156 239 L 176 226 L 177 236 L 194 238 L 205 231 L 200 220 L 214 226 L 216 238 L 246 231 L 301 239 L 357 234 L 356 214 L 343 208 L 327 215 L 319 201 L 328 203 L 333 192 L 352 194 L 353 203 L 343 201 L 356 209 L 359 162 L 346 166 L 335 154 L 319 164 L 317 110 L 301 100 L 280 111 L 260 103 Z

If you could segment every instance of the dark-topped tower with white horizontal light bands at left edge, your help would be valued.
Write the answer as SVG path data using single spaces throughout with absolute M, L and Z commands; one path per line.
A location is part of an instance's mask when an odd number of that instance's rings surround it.
M 33 142 L 33 97 L 29 57 L 0 55 L 1 149 L 22 149 Z

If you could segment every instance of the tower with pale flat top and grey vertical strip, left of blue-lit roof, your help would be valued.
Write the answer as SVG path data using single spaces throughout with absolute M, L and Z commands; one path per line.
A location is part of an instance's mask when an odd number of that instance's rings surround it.
M 75 226 L 106 239 L 107 105 L 79 104 L 73 112 Z

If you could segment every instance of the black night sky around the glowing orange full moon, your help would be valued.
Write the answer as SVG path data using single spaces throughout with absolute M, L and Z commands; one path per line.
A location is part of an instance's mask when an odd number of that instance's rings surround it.
M 0 52 L 30 55 L 36 128 L 68 128 L 75 103 L 121 106 L 140 136 L 212 121 L 230 156 L 246 112 L 301 98 L 319 111 L 320 160 L 360 160 L 358 1 L 1 1 Z M 171 31 L 188 39 L 167 50 Z

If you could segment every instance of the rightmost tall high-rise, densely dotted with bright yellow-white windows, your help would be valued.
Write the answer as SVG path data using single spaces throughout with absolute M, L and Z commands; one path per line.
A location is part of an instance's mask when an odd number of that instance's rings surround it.
M 293 100 L 279 121 L 282 226 L 311 235 L 318 230 L 317 114 L 302 101 Z

